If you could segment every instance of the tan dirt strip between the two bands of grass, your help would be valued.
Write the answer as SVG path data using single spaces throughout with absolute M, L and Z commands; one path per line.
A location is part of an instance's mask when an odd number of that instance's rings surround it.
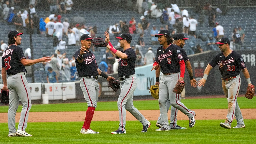
M 226 119 L 227 109 L 193 109 L 197 120 L 204 119 Z M 256 109 L 241 109 L 244 119 L 256 119 Z M 159 110 L 140 110 L 147 120 L 157 120 Z M 84 121 L 86 112 L 30 112 L 28 122 L 64 122 Z M 16 114 L 16 122 L 19 122 L 20 113 Z M 170 112 L 168 113 L 170 118 Z M 178 120 L 187 120 L 188 117 L 178 112 Z M 93 121 L 118 121 L 118 111 L 95 111 Z M 136 120 L 127 112 L 126 120 Z M 7 113 L 1 113 L 0 123 L 7 123 Z

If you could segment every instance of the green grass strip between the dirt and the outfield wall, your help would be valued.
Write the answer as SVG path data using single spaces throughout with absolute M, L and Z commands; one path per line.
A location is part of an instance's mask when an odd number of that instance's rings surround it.
M 256 108 L 256 98 L 247 99 L 238 97 L 240 108 Z M 201 98 L 201 99 L 182 99 L 181 102 L 189 109 L 225 109 L 228 108 L 226 98 Z M 134 101 L 134 106 L 141 110 L 159 109 L 157 100 Z M 17 112 L 21 111 L 22 106 L 19 105 Z M 71 112 L 71 111 L 86 111 L 87 103 L 69 103 L 69 104 L 37 104 L 33 105 L 30 112 Z M 99 110 L 118 110 L 116 102 L 98 102 L 97 111 Z M 1 106 L 0 113 L 7 113 L 8 106 Z

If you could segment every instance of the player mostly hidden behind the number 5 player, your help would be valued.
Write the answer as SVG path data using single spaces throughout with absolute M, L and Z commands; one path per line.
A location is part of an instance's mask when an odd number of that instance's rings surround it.
M 188 39 L 188 38 L 185 38 L 185 35 L 184 34 L 175 34 L 173 36 L 173 45 L 177 45 L 179 46 L 180 48 L 183 48 L 184 45 L 185 45 L 185 40 Z M 197 81 L 193 78 L 193 71 L 192 71 L 192 67 L 191 67 L 191 64 L 190 64 L 190 61 L 188 59 L 188 56 L 185 52 L 184 49 L 180 49 L 181 53 L 182 53 L 182 56 L 183 56 L 183 59 L 185 61 L 185 65 L 187 67 L 187 71 L 189 73 L 189 78 L 190 78 L 190 84 L 191 86 L 193 87 L 196 87 L 197 86 Z M 183 89 L 183 91 L 185 90 L 185 88 Z M 183 92 L 182 91 L 182 92 Z M 182 95 L 182 93 L 181 93 Z M 181 97 L 179 98 L 179 102 L 180 102 L 180 99 Z M 169 98 L 166 98 L 166 108 L 167 108 L 167 112 L 170 108 L 171 104 L 170 104 L 170 100 Z M 178 109 L 175 108 L 175 107 L 171 107 L 171 117 L 170 117 L 170 129 L 187 129 L 187 128 L 184 128 L 184 127 L 180 127 L 179 125 L 177 125 L 177 114 L 178 114 Z M 161 128 L 162 127 L 162 118 L 161 118 L 161 114 L 160 116 L 158 117 L 158 120 L 156 122 L 156 126 Z

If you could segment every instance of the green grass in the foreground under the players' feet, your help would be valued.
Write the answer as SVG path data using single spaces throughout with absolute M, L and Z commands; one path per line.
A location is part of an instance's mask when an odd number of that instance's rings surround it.
M 179 120 L 178 124 L 187 129 L 170 131 L 155 131 L 156 121 L 151 121 L 146 133 L 140 132 L 139 121 L 127 121 L 127 133 L 116 135 L 111 131 L 118 128 L 118 121 L 92 121 L 91 128 L 100 134 L 81 134 L 83 122 L 29 123 L 26 131 L 33 137 L 7 137 L 7 123 L 0 123 L 0 143 L 256 143 L 255 119 L 245 119 L 246 127 L 241 129 L 221 128 L 222 121 L 196 120 L 189 128 L 188 120 Z

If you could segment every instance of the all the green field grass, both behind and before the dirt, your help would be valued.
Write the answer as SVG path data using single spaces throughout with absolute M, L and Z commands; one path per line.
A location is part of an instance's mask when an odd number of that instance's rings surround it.
M 227 109 L 226 98 L 183 99 L 190 109 Z M 256 99 L 238 97 L 240 108 L 256 108 Z M 139 110 L 159 109 L 157 100 L 134 101 Z M 86 111 L 86 103 L 33 105 L 30 112 Z M 20 112 L 21 106 L 18 108 Z M 117 110 L 116 102 L 99 102 L 96 110 Z M 0 107 L 6 113 L 8 106 Z M 196 111 L 196 110 L 195 110 Z M 209 113 L 211 111 L 209 110 Z M 256 111 L 255 111 L 256 113 Z M 223 116 L 225 118 L 225 116 Z M 244 119 L 245 128 L 225 129 L 219 126 L 220 120 L 196 120 L 193 128 L 188 127 L 188 120 L 178 120 L 186 130 L 155 131 L 156 120 L 148 132 L 141 133 L 139 121 L 126 122 L 126 134 L 111 134 L 118 128 L 119 121 L 92 121 L 93 129 L 100 134 L 80 134 L 81 122 L 28 123 L 26 131 L 33 137 L 7 137 L 8 124 L 0 123 L 0 143 L 256 143 L 256 119 Z M 233 121 L 232 127 L 236 124 Z M 17 127 L 16 123 L 16 127 Z

